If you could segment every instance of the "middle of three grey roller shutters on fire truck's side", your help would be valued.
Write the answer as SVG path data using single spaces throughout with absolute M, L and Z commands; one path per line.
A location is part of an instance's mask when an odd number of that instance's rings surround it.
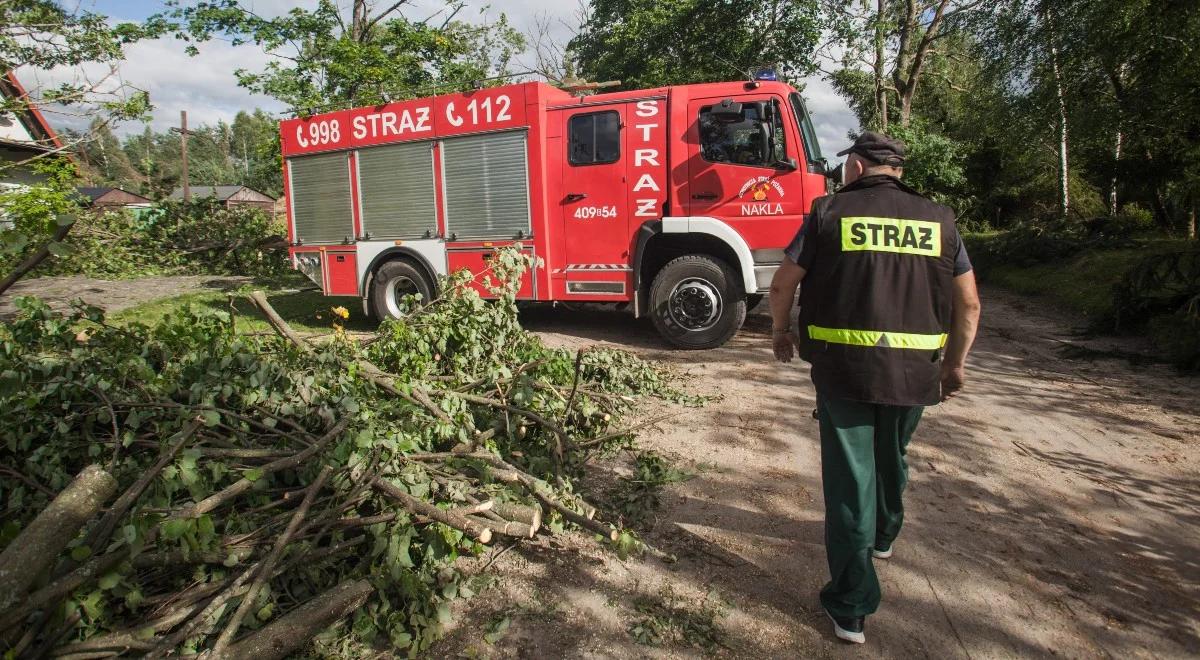
M 372 239 L 420 239 L 438 232 L 431 143 L 359 151 L 362 232 Z

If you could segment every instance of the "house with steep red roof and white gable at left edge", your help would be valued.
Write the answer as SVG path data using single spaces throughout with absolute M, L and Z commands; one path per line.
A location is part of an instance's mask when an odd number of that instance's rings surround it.
M 18 101 L 23 106 L 20 112 L 0 112 L 0 188 L 37 184 L 42 178 L 28 164 L 4 166 L 59 151 L 62 143 L 11 71 L 0 77 L 0 96 L 5 102 Z

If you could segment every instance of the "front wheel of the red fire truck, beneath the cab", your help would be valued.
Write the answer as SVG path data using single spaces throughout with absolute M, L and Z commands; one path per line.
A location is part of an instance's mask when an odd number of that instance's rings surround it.
M 688 254 L 671 260 L 650 284 L 650 319 L 662 338 L 691 350 L 730 341 L 746 319 L 745 292 L 721 259 Z

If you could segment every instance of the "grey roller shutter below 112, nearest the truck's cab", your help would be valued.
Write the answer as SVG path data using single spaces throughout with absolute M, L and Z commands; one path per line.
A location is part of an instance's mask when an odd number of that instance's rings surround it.
M 526 132 L 443 142 L 446 232 L 456 240 L 529 236 Z

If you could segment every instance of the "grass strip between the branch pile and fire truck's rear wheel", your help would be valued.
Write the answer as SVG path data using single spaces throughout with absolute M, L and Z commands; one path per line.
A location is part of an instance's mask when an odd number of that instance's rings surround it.
M 266 323 L 266 319 L 258 313 L 258 310 L 246 296 L 248 292 L 258 287 L 246 287 L 228 293 L 191 293 L 151 300 L 150 302 L 143 302 L 142 305 L 116 312 L 109 319 L 119 324 L 139 322 L 154 325 L 161 323 L 167 314 L 182 310 L 186 306 L 192 306 L 226 312 L 232 311 L 238 331 L 240 332 L 270 331 L 271 326 Z M 358 298 L 332 298 L 322 295 L 320 292 L 298 292 L 295 289 L 268 289 L 266 299 L 284 320 L 301 332 L 330 331 L 332 322 L 337 319 L 331 312 L 334 307 L 344 307 L 350 313 L 349 319 L 342 323 L 347 331 L 368 332 L 376 328 L 376 324 L 364 316 L 362 305 L 359 304 Z

